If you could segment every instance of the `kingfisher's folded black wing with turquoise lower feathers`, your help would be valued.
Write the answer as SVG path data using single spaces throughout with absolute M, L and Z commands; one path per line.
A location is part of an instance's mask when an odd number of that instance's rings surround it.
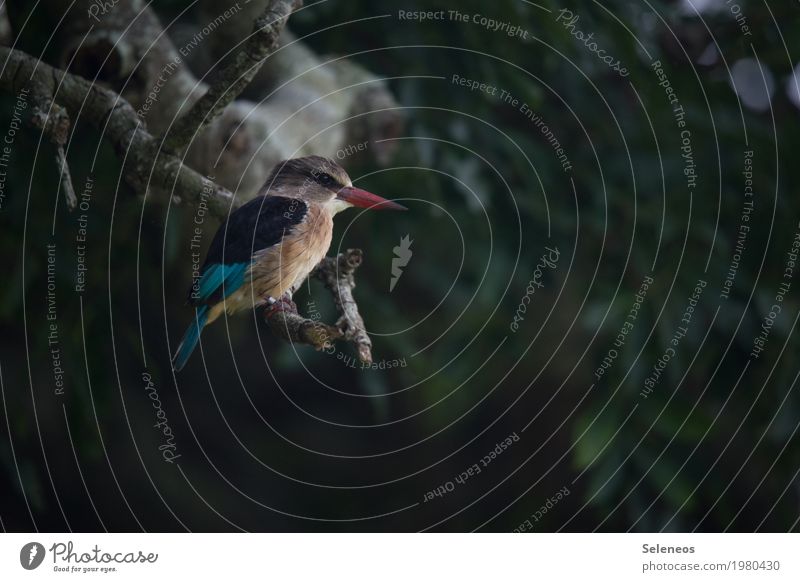
M 200 277 L 189 289 L 189 303 L 217 303 L 236 291 L 253 254 L 280 243 L 307 213 L 304 201 L 285 196 L 258 196 L 234 211 L 211 241 Z

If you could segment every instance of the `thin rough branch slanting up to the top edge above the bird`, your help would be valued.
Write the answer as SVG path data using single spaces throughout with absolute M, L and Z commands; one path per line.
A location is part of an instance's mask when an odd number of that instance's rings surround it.
M 278 38 L 292 11 L 302 4 L 302 0 L 272 0 L 267 5 L 253 25 L 253 34 L 233 62 L 215 75 L 205 95 L 170 128 L 164 142 L 168 150 L 177 151 L 186 146 L 241 94 L 264 59 L 277 48 Z

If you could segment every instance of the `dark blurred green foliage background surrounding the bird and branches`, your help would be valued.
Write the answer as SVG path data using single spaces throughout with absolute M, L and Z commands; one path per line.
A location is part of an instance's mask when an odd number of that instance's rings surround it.
M 190 317 L 182 302 L 193 210 L 167 212 L 162 200 L 119 186 L 120 164 L 101 145 L 78 295 L 77 224 L 55 202 L 54 151 L 20 131 L 0 207 L 3 528 L 510 531 L 529 520 L 534 531 L 797 529 L 800 282 L 764 352 L 750 357 L 800 220 L 800 112 L 787 92 L 797 4 L 741 1 L 751 36 L 724 4 L 699 16 L 677 2 L 538 4 L 331 0 L 290 21 L 317 53 L 360 53 L 352 58 L 394 78 L 406 108 L 407 139 L 388 169 L 345 165 L 359 186 L 405 199 L 410 211 L 349 211 L 334 241 L 364 249 L 356 296 L 375 358 L 405 367 L 349 368 L 280 342 L 259 316 L 243 314 L 208 328 L 204 358 L 196 353 L 176 378 L 169 356 Z M 155 6 L 166 21 L 185 4 Z M 563 7 L 628 77 L 556 22 Z M 529 39 L 397 18 L 420 8 L 484 14 Z M 321 31 L 379 14 L 391 17 Z M 182 24 L 193 18 L 190 10 Z M 21 47 L 39 54 L 46 35 L 36 14 L 30 26 Z M 764 92 L 763 78 L 738 77 L 738 94 L 731 84 L 735 65 L 754 57 L 773 85 L 765 109 L 747 100 Z M 692 190 L 653 60 L 686 111 Z M 453 85 L 454 74 L 529 104 L 572 170 L 518 108 Z M 3 96 L 3 131 L 13 106 Z M 80 185 L 102 136 L 82 129 L 74 139 Z M 746 150 L 751 229 L 722 299 Z M 414 255 L 390 293 L 392 249 L 406 234 Z M 47 342 L 51 242 L 63 396 L 54 394 Z M 513 333 L 546 246 L 559 261 Z M 634 329 L 596 380 L 648 274 Z M 707 286 L 688 334 L 643 398 L 699 279 Z M 297 295 L 301 311 L 309 298 L 333 318 L 318 283 Z M 158 450 L 145 373 L 175 434 L 173 464 Z M 480 474 L 454 481 L 512 433 L 518 442 Z M 451 492 L 424 501 L 449 481 Z M 564 487 L 568 496 L 548 502 Z

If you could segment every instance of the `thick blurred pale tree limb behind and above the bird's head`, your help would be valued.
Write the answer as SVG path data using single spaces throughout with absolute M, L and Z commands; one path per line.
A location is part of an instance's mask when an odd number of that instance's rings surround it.
M 206 2 L 199 31 L 183 38 L 176 34 L 178 44 L 143 0 L 118 2 L 96 19 L 86 16 L 96 0 L 75 0 L 74 5 L 72 0 L 50 1 L 58 7 L 53 18 L 72 6 L 61 35 L 68 47 L 61 66 L 69 64 L 70 72 L 120 93 L 151 134 L 167 133 L 168 149 L 185 154 L 186 164 L 213 176 L 242 201 L 255 196 L 274 165 L 288 158 L 316 154 L 337 159 L 348 146 L 363 142 L 367 147 L 359 155 L 380 164 L 387 164 L 394 152 L 396 144 L 390 138 L 402 132 L 404 117 L 386 83 L 349 60 L 320 59 L 290 33 L 278 37 L 276 50 L 260 69 L 252 68 L 254 78 L 245 89 L 249 98 L 215 110 L 220 113 L 215 119 L 209 116 L 206 127 L 188 136 L 186 151 L 179 147 L 186 145 L 184 124 L 191 125 L 181 119 L 204 95 L 227 99 L 242 89 L 208 93 L 209 84 L 225 70 L 220 69 L 223 63 L 259 61 L 252 58 L 257 55 L 241 55 L 243 49 L 247 53 L 251 46 L 263 44 L 260 27 L 253 31 L 253 18 L 274 0 L 232 6 Z M 190 65 L 204 59 L 212 66 L 198 79 Z M 278 89 L 280 85 L 284 86 Z M 214 86 L 215 91 L 223 87 Z M 177 133 L 182 137 L 170 138 Z

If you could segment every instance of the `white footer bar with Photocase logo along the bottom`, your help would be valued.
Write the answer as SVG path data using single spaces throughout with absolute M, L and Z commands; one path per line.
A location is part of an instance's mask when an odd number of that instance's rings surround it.
M 793 534 L 3 534 L 0 580 L 800 580 Z M 580 578 L 579 578 L 580 577 Z

